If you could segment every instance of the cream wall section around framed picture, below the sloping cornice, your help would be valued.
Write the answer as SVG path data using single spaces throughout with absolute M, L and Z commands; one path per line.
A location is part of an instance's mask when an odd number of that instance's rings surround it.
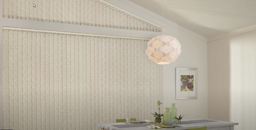
M 164 107 L 177 103 L 178 115 L 185 114 L 184 119 L 207 119 L 207 44 L 181 31 L 174 32 L 171 27 L 165 30 L 180 41 L 182 53 L 175 62 L 164 66 Z M 198 68 L 198 99 L 175 100 L 175 67 Z

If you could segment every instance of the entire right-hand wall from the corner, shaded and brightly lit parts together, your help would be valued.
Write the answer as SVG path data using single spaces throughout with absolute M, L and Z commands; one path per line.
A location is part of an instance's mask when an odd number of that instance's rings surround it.
M 255 129 L 256 31 L 208 42 L 209 118 Z

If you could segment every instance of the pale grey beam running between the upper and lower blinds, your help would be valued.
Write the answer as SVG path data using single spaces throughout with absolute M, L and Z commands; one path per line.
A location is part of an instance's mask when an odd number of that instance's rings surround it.
M 44 21 L 9 19 L 9 18 L 2 18 L 0 25 L 2 27 L 27 28 L 27 29 L 71 32 L 71 33 L 80 33 L 80 34 L 120 36 L 120 37 L 126 37 L 130 39 L 132 38 L 134 39 L 150 38 L 151 39 L 156 35 L 162 34 L 161 32 L 119 29 L 119 28 L 110 28 L 110 27 L 94 27 L 94 26 L 84 26 L 84 25 L 81 26 L 81 25 L 74 25 L 74 24 L 52 23 L 52 22 L 44 22 Z

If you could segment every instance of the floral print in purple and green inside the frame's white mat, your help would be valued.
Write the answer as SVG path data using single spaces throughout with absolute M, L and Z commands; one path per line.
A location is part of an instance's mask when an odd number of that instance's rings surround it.
M 180 91 L 194 90 L 194 75 L 180 75 Z

